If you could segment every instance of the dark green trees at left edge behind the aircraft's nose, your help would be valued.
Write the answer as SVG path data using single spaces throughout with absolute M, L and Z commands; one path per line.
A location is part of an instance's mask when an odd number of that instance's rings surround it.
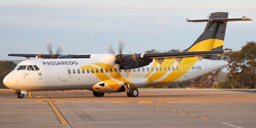
M 14 69 L 14 67 L 16 67 L 16 65 L 17 64 L 15 64 L 12 61 L 0 61 L 0 84 L 1 85 L 3 85 L 4 77 L 7 74 L 9 74 Z

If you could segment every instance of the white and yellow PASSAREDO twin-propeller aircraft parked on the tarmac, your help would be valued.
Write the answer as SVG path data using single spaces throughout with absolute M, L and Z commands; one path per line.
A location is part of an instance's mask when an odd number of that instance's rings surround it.
M 90 90 L 95 97 L 126 91 L 137 97 L 138 88 L 179 84 L 227 66 L 221 60 L 227 22 L 252 20 L 248 17 L 229 19 L 227 12 L 209 14 L 199 38 L 181 52 L 124 54 L 8 54 L 35 57 L 20 62 L 3 82 L 14 89 L 18 98 L 27 91 Z M 112 48 L 108 48 L 113 52 Z M 58 50 L 60 51 L 60 50 Z M 41 59 L 39 59 L 41 58 Z

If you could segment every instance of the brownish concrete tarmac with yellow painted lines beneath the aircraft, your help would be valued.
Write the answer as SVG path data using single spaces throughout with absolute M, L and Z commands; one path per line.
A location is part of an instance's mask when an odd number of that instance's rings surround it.
M 254 90 L 14 92 L 0 90 L 0 128 L 256 128 Z

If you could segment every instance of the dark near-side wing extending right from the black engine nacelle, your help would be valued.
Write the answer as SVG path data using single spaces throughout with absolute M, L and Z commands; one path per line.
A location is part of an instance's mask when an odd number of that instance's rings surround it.
M 212 51 L 195 51 L 195 52 L 163 52 L 163 53 L 143 53 L 140 57 L 142 58 L 150 58 L 159 60 L 159 63 L 163 61 L 163 59 L 174 59 L 177 62 L 180 62 L 182 58 L 188 57 L 196 57 L 199 61 L 206 55 L 216 54 L 217 56 L 221 56 L 221 54 L 238 52 L 234 50 L 212 50 Z

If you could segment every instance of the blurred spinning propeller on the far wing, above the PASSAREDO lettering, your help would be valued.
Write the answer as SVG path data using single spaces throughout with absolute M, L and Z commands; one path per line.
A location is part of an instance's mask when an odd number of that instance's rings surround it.
M 52 40 L 46 41 L 46 48 L 47 48 L 48 52 L 50 53 L 50 57 L 51 57 L 52 59 L 56 59 L 57 56 L 58 56 L 61 52 L 65 51 L 64 46 L 63 46 L 62 44 L 59 44 L 59 46 L 58 46 L 58 48 L 57 48 L 56 54 L 53 54 L 53 50 L 52 50 Z M 40 56 L 40 54 L 39 54 L 38 56 Z

